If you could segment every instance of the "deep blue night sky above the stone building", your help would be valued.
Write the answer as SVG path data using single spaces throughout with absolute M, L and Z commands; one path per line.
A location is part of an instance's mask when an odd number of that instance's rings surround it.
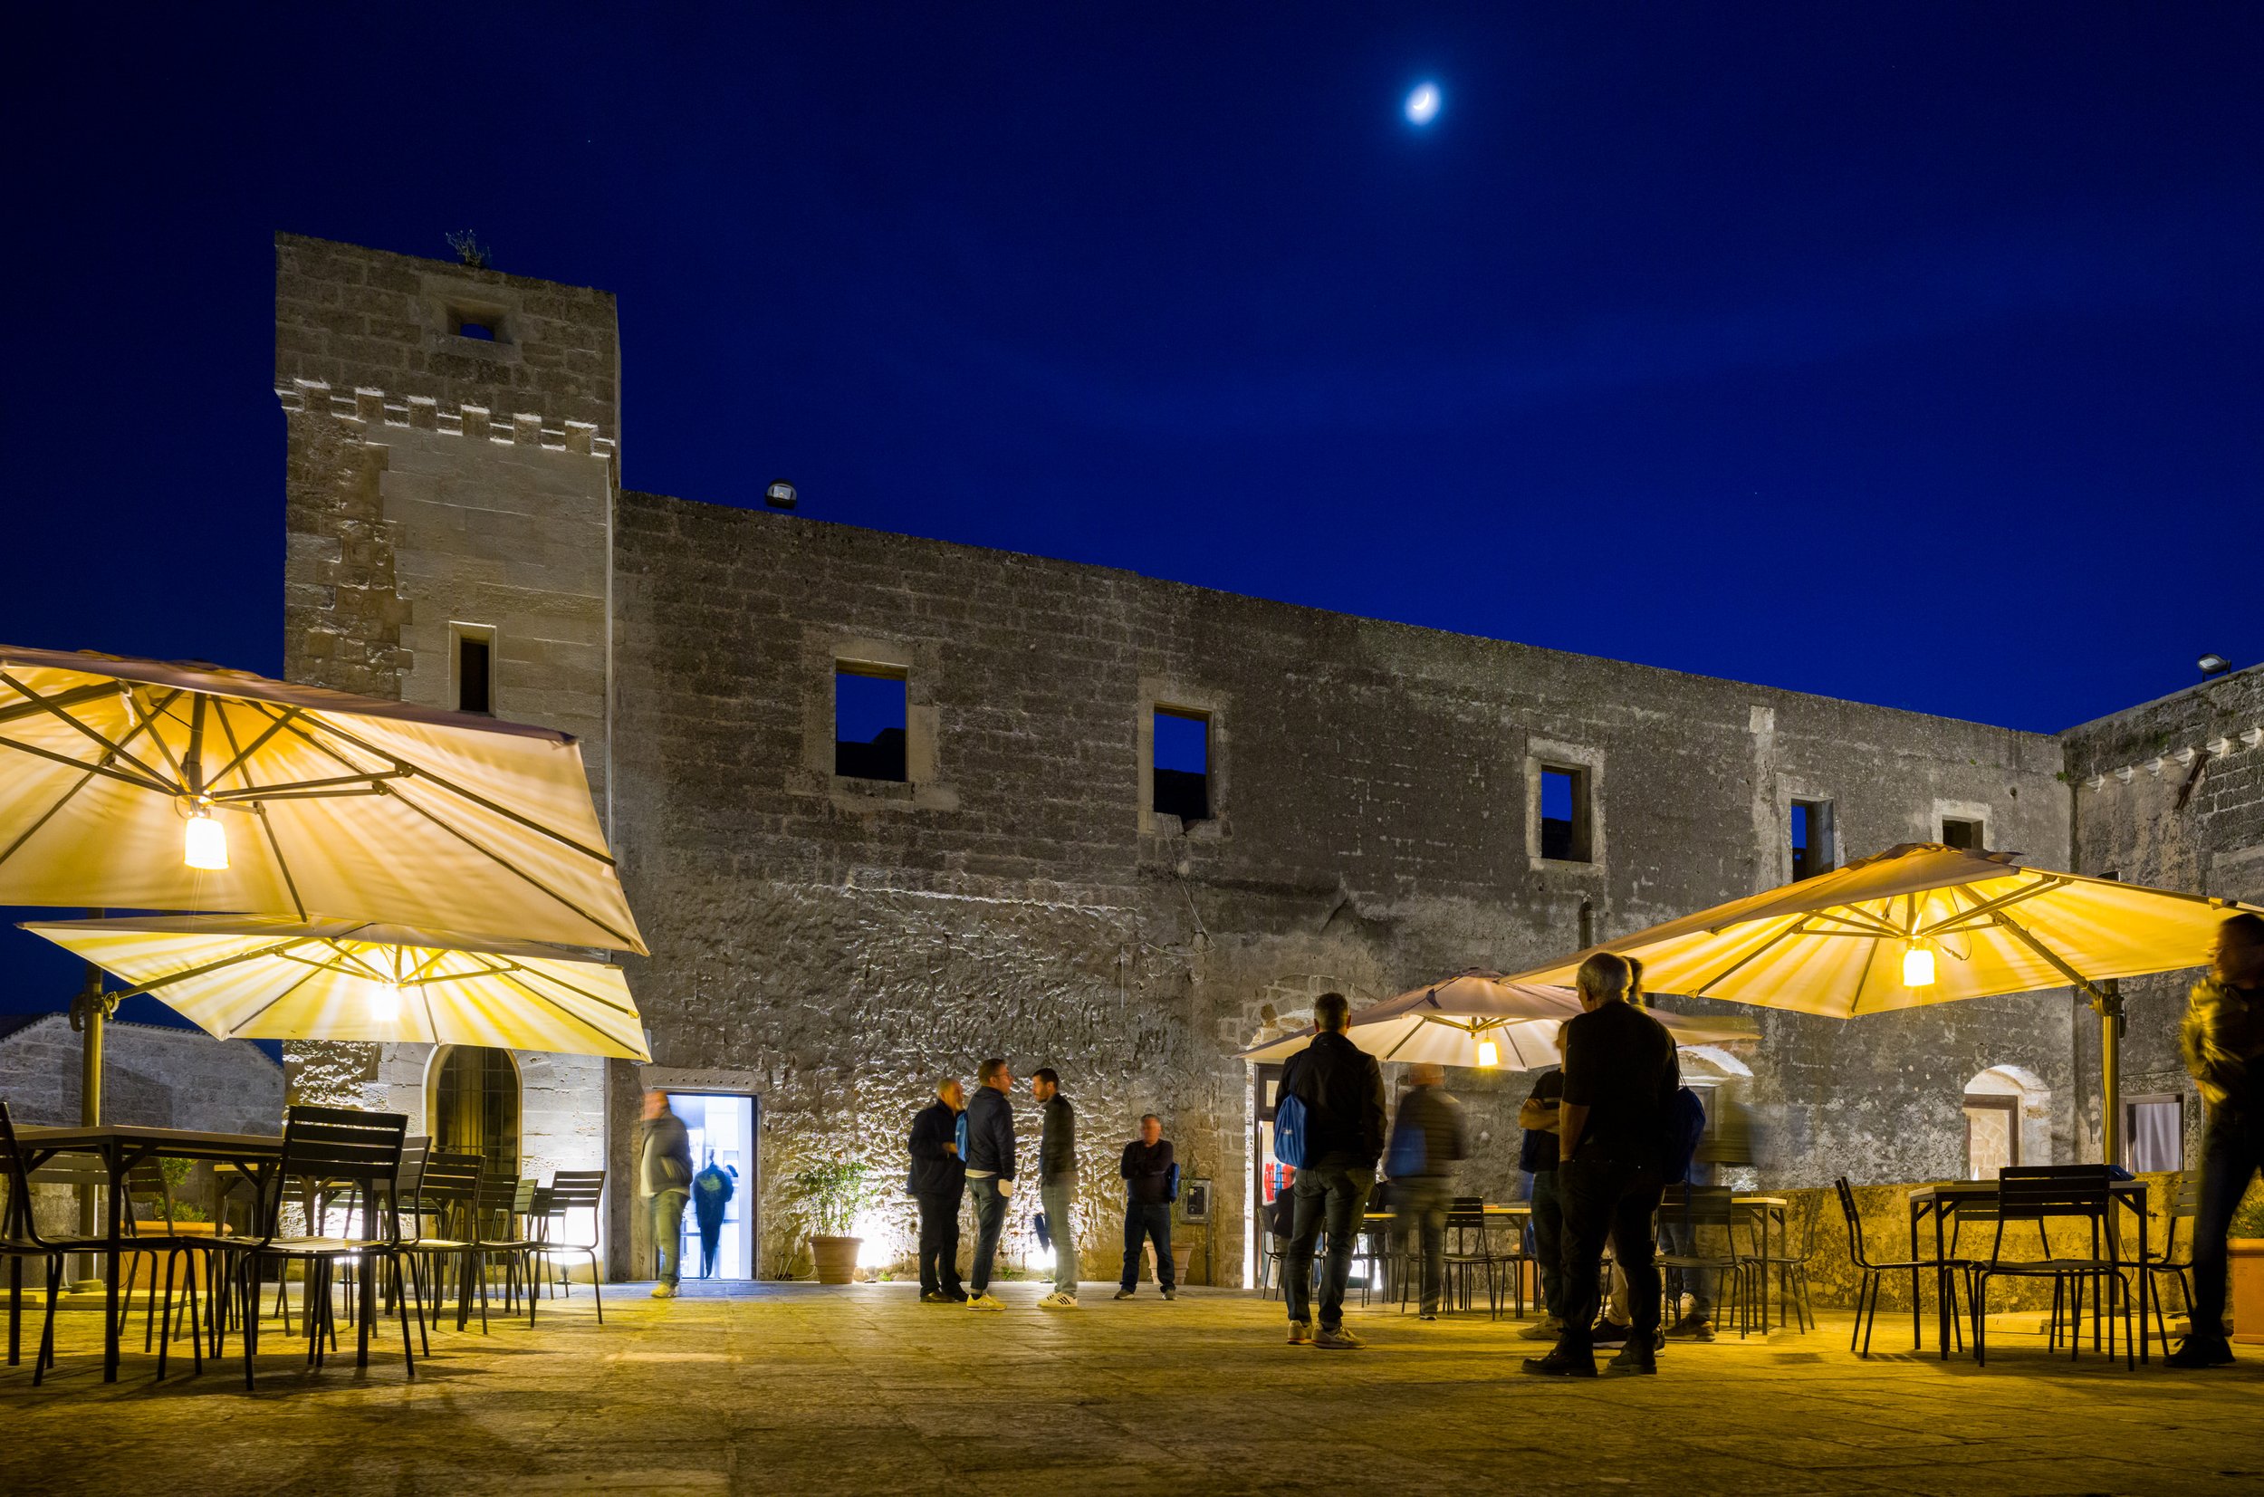
M 638 489 L 2031 729 L 2264 659 L 2255 5 L 743 9 L 18 16 L 0 639 L 276 670 L 269 236 L 471 226 Z

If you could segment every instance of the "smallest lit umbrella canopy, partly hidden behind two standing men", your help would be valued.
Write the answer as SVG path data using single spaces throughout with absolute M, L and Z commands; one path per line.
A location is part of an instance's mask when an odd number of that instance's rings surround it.
M 1377 1060 L 1533 1071 L 1558 1064 L 1555 1030 L 1580 1012 L 1569 987 L 1510 983 L 1492 972 L 1465 972 L 1431 987 L 1401 992 L 1352 1015 L 1347 1040 Z M 1752 1040 L 1755 1024 L 1736 1017 L 1693 1017 L 1653 1010 L 1675 1044 Z M 1266 1040 L 1241 1053 L 1270 1064 L 1302 1051 L 1313 1026 Z M 1492 1055 L 1483 1046 L 1494 1046 Z

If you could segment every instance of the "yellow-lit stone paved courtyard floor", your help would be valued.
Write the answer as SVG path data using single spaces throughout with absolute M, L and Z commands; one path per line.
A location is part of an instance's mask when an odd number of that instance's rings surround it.
M 1657 1379 L 1544 1384 L 1515 1375 L 1515 1323 L 1483 1316 L 1356 1311 L 1370 1350 L 1327 1354 L 1241 1293 L 1116 1304 L 1089 1284 L 1069 1314 L 1003 1293 L 1007 1314 L 974 1316 L 906 1284 L 620 1286 L 600 1327 L 577 1291 L 534 1332 L 435 1338 L 414 1384 L 385 1359 L 355 1375 L 351 1345 L 308 1377 L 269 1341 L 249 1397 L 215 1370 L 154 1386 L 138 1320 L 104 1388 L 82 1311 L 43 1388 L 0 1375 L 0 1490 L 2264 1490 L 2253 1350 L 2182 1377 L 2010 1334 L 1988 1368 L 1866 1363 L 1827 1311 L 1807 1336 L 1671 1348 Z

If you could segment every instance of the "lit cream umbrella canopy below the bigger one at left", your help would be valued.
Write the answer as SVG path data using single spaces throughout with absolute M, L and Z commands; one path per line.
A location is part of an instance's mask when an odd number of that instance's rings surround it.
M 620 967 L 351 919 L 25 922 L 220 1040 L 394 1040 L 650 1060 Z

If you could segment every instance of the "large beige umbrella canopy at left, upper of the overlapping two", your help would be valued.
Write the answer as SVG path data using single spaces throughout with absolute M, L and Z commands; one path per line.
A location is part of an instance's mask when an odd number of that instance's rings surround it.
M 645 951 L 568 734 L 11 645 L 0 904 L 288 910 Z

